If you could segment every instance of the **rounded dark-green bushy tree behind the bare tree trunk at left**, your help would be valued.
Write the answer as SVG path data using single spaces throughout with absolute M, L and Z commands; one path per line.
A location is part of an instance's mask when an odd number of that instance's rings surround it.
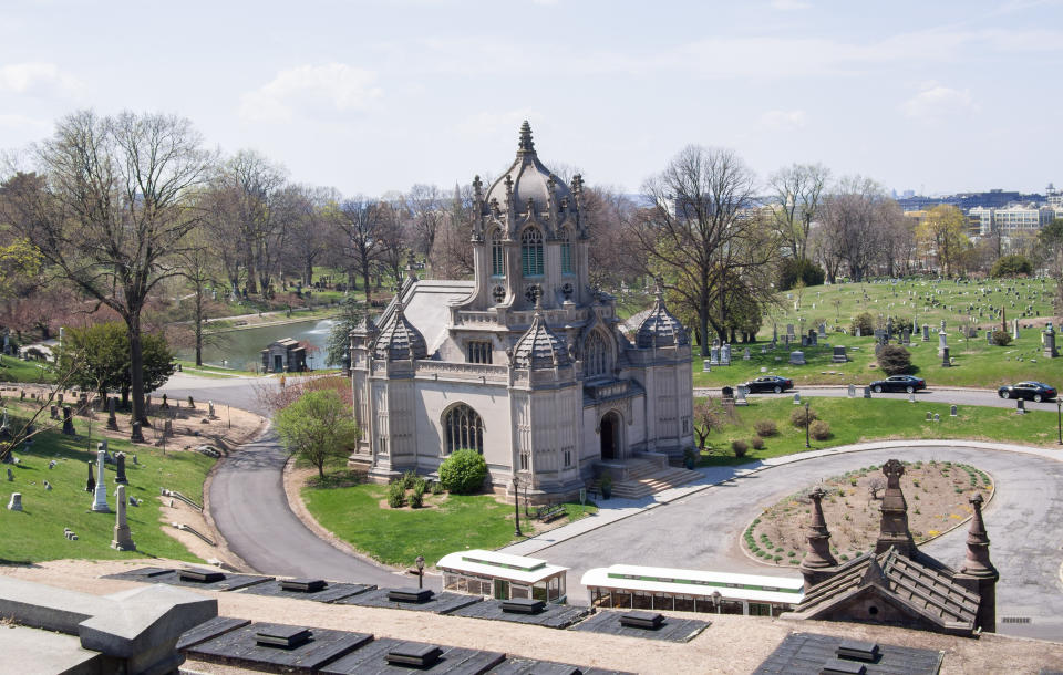
M 174 374 L 174 355 L 162 335 L 144 333 L 142 346 L 142 383 L 145 392 L 154 392 Z M 123 324 L 112 321 L 71 328 L 63 334 L 62 345 L 55 347 L 54 357 L 59 372 L 71 373 L 70 384 L 99 393 L 101 401 L 107 392 L 121 392 L 123 404 L 128 402 L 132 363 L 128 331 Z

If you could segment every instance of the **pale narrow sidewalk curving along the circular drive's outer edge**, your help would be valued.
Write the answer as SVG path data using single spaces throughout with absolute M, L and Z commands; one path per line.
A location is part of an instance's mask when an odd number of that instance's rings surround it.
M 513 555 L 533 555 L 534 553 L 547 549 L 554 544 L 567 541 L 580 534 L 597 530 L 607 525 L 637 516 L 642 511 L 670 503 L 682 499 L 689 495 L 706 490 L 711 487 L 722 485 L 734 480 L 752 476 L 767 469 L 785 466 L 795 461 L 806 461 L 819 457 L 829 457 L 832 455 L 842 455 L 847 453 L 863 453 L 868 450 L 884 450 L 889 448 L 910 448 L 910 447 L 957 447 L 957 448 L 978 448 L 985 450 L 1000 450 L 1004 453 L 1024 453 L 1026 455 L 1036 455 L 1045 459 L 1063 461 L 1063 446 L 1059 450 L 1049 448 L 1036 448 L 1024 445 L 1012 445 L 1007 443 L 983 443 L 980 440 L 875 440 L 870 443 L 857 443 L 853 445 L 843 445 L 824 450 L 809 450 L 796 455 L 786 455 L 784 457 L 773 457 L 763 461 L 751 461 L 735 467 L 701 467 L 695 469 L 702 475 L 702 478 L 675 488 L 669 488 L 643 497 L 641 499 L 608 499 L 598 502 L 598 513 L 581 518 L 576 522 L 553 529 L 537 537 L 532 537 L 524 541 L 510 544 L 499 549 L 503 553 Z

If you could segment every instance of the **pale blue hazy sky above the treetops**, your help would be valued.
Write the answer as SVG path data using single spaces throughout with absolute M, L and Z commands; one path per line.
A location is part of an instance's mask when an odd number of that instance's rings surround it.
M 887 189 L 1063 184 L 1063 0 L 0 3 L 0 148 L 174 113 L 344 195 L 548 165 L 628 193 L 689 144 Z

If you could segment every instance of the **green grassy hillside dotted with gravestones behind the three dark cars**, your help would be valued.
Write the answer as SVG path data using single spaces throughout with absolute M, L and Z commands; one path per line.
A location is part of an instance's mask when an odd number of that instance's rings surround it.
M 987 344 L 984 330 L 989 328 L 999 328 L 1000 321 L 989 319 L 983 313 L 978 319 L 974 313 L 976 323 L 973 325 L 980 329 L 979 336 L 966 339 L 960 336 L 959 328 L 972 325 L 966 313 L 962 311 L 948 311 L 946 308 L 952 305 L 954 310 L 963 310 L 969 304 L 979 303 L 992 304 L 994 307 L 1004 305 L 1009 316 L 1019 318 L 1020 311 L 1024 305 L 1033 304 L 1035 311 L 1041 312 L 1041 316 L 1051 316 L 1049 299 L 1052 293 L 1052 285 L 1046 283 L 1042 291 L 1041 283 L 1035 281 L 1008 281 L 1005 285 L 1015 284 L 1023 294 L 1023 300 L 1016 301 L 1016 309 L 1011 309 L 1010 300 L 1005 300 L 1003 293 L 993 291 L 989 295 L 982 297 L 978 292 L 979 288 L 997 288 L 995 283 L 984 282 L 983 284 L 959 284 L 956 282 L 942 282 L 938 285 L 931 285 L 925 281 L 906 281 L 897 284 L 896 289 L 890 284 L 838 284 L 825 287 L 812 287 L 804 291 L 804 298 L 801 311 L 793 311 L 793 301 L 787 301 L 786 294 L 781 295 L 783 302 L 789 302 L 789 311 L 776 319 L 780 335 L 786 332 L 786 324 L 793 323 L 795 332 L 801 331 L 799 318 L 804 316 L 805 330 L 816 326 L 819 321 L 826 321 L 828 324 L 828 336 L 826 339 L 832 345 L 845 345 L 849 347 L 849 363 L 834 364 L 830 362 L 830 347 L 807 347 L 802 351 L 805 353 L 805 360 L 808 365 L 793 366 L 788 364 L 789 351 L 799 350 L 798 345 L 784 347 L 780 343 L 778 347 L 767 354 L 762 354 L 761 349 L 772 338 L 772 323 L 765 321 L 758 339 L 758 344 L 749 345 L 751 360 L 742 360 L 742 351 L 746 345 L 732 345 L 732 364 L 727 367 L 714 367 L 711 373 L 702 371 L 702 357 L 694 357 L 694 386 L 719 387 L 723 385 L 734 385 L 745 382 L 761 374 L 761 367 L 766 367 L 767 373 L 791 377 L 795 384 L 866 384 L 871 380 L 883 376 L 881 371 L 873 367 L 875 361 L 875 340 L 874 336 L 855 338 L 840 332 L 834 332 L 830 329 L 835 325 L 849 329 L 852 318 L 856 314 L 867 311 L 873 316 L 881 315 L 885 320 L 886 314 L 894 316 L 894 325 L 899 331 L 901 325 L 910 325 L 912 318 L 916 318 L 921 326 L 923 323 L 930 326 L 930 341 L 922 342 L 921 333 L 914 336 L 912 344 L 909 347 L 911 352 L 912 364 L 917 367 L 916 373 L 927 380 L 927 384 L 932 388 L 935 385 L 952 386 L 977 386 L 977 387 L 997 387 L 1002 384 L 1018 382 L 1020 380 L 1043 380 L 1050 384 L 1063 384 L 1063 359 L 1043 359 L 1041 356 L 1041 329 L 1020 329 L 1020 338 L 1008 346 L 995 346 Z M 1025 285 L 1023 285 L 1025 284 Z M 927 293 L 928 291 L 940 289 L 942 292 L 935 295 L 941 307 L 931 307 L 921 299 L 916 298 L 912 304 L 909 300 L 909 292 Z M 895 294 L 896 290 L 896 294 Z M 864 300 L 864 292 L 868 300 Z M 951 294 L 950 294 L 951 292 Z M 821 295 L 817 298 L 817 293 Z M 1034 294 L 1038 300 L 1028 300 L 1028 294 Z M 795 294 L 796 297 L 796 294 Z M 832 301 L 840 300 L 840 311 L 836 311 Z M 878 302 L 875 302 L 875 301 Z M 907 304 L 901 304 L 905 302 Z M 816 309 L 812 309 L 815 303 Z M 926 311 L 925 311 L 926 309 Z M 840 322 L 838 321 L 840 316 Z M 946 320 L 946 331 L 948 332 L 948 344 L 951 356 L 956 360 L 953 367 L 941 367 L 941 359 L 937 355 L 938 329 L 940 321 Z M 1031 318 L 1020 318 L 1020 325 L 1031 321 Z M 1060 340 L 1063 349 L 1063 340 Z M 859 347 L 854 351 L 853 347 Z M 696 347 L 695 347 L 696 350 Z M 1023 361 L 1019 361 L 1019 359 Z M 1031 361 L 1033 360 L 1033 361 Z

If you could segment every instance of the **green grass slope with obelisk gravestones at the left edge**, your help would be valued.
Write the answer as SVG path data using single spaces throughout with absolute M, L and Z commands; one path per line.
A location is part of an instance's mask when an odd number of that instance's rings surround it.
M 8 403 L 9 414 L 17 417 L 19 404 Z M 45 418 L 48 415 L 45 414 Z M 7 465 L 14 472 L 14 480 L 7 480 L 7 471 L 0 468 L 0 499 L 6 507 L 11 492 L 22 494 L 24 511 L 0 511 L 0 563 L 35 562 L 61 558 L 79 559 L 118 559 L 158 557 L 176 560 L 198 559 L 192 555 L 176 539 L 164 533 L 159 522 L 162 502 L 159 488 L 178 490 L 192 499 L 203 502 L 203 481 L 214 465 L 214 459 L 198 453 L 169 453 L 147 446 L 133 446 L 125 440 L 107 442 L 112 454 L 124 451 L 126 476 L 130 484 L 126 495 L 143 500 L 140 507 L 128 507 L 130 528 L 136 551 L 122 552 L 111 549 L 115 517 L 112 513 L 93 513 L 92 495 L 85 492 L 87 478 L 86 461 L 95 460 L 95 445 L 100 440 L 95 430 L 103 419 L 93 423 L 93 437 L 85 436 L 86 424 L 75 418 L 78 436 L 63 436 L 55 430 L 44 432 L 35 437 L 32 451 L 16 451 L 21 460 L 19 465 Z M 17 419 L 12 426 L 20 427 Z M 86 448 L 91 446 L 93 451 Z M 136 453 L 140 465 L 132 463 Z M 49 469 L 50 460 L 58 464 Z M 109 497 L 107 503 L 115 508 L 113 466 L 106 467 Z M 43 481 L 52 485 L 47 491 Z M 63 528 L 78 533 L 78 541 L 68 541 Z

